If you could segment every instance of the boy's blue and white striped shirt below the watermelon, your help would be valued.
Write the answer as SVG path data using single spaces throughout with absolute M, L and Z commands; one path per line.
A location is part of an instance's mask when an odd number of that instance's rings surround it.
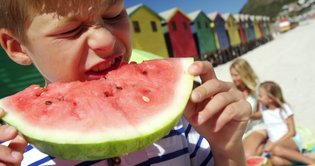
M 7 142 L 0 142 L 8 145 Z M 189 166 L 214 165 L 209 143 L 182 117 L 179 123 L 160 141 L 135 152 L 119 156 L 119 166 Z M 109 160 L 109 159 L 108 159 Z M 112 162 L 112 161 L 111 161 Z M 66 161 L 39 152 L 28 145 L 22 166 L 60 165 L 60 166 L 107 166 L 109 161 Z

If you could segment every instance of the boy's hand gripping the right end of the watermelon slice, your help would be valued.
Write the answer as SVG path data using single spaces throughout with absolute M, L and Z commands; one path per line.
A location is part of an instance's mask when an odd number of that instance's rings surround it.
M 200 75 L 202 85 L 192 91 L 185 118 L 211 149 L 227 155 L 237 152 L 235 148 L 243 148 L 242 136 L 251 116 L 251 105 L 232 82 L 216 78 L 210 62 L 196 61 L 188 72 Z

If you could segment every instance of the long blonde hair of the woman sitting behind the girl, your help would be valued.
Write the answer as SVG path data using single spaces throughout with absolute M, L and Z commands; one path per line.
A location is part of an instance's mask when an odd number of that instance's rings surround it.
M 245 86 L 251 93 L 256 94 L 256 86 L 259 80 L 250 65 L 244 59 L 238 59 L 231 65 L 231 69 L 238 71 Z

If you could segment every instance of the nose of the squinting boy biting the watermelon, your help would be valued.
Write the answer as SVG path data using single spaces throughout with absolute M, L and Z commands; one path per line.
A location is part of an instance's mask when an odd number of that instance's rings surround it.
M 104 27 L 91 31 L 88 39 L 89 47 L 95 51 L 111 51 L 115 42 L 115 36 Z

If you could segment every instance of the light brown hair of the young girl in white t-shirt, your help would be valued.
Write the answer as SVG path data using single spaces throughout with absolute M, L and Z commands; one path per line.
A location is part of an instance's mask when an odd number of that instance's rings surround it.
M 259 87 L 266 90 L 267 95 L 273 99 L 277 107 L 284 109 L 283 104 L 287 102 L 284 100 L 281 88 L 278 84 L 272 81 L 266 81 L 266 82 L 261 83 Z

